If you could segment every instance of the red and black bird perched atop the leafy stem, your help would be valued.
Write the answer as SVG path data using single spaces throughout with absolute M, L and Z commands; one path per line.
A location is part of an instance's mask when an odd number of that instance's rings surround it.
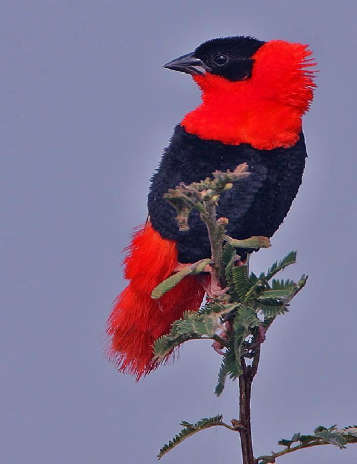
M 126 248 L 129 282 L 107 322 L 108 358 L 120 372 L 138 380 L 156 369 L 155 341 L 185 311 L 197 311 L 205 295 L 202 279 L 187 276 L 160 299 L 151 298 L 179 265 L 211 256 L 198 211 L 191 212 L 189 229 L 179 230 L 176 212 L 163 198 L 169 189 L 247 163 L 250 175 L 224 192 L 218 205 L 218 217 L 229 220 L 227 234 L 270 238 L 283 222 L 307 156 L 302 116 L 316 87 L 311 55 L 301 43 L 232 36 L 208 40 L 163 66 L 191 75 L 202 102 L 174 128 L 151 178 L 149 219 Z

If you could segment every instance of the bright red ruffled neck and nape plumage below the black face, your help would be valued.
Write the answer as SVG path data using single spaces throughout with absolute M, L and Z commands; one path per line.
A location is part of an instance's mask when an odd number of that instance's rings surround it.
M 313 98 L 315 66 L 307 45 L 282 40 L 267 42 L 254 54 L 253 73 L 246 81 L 221 76 L 194 76 L 202 104 L 181 125 L 204 140 L 229 145 L 249 143 L 259 150 L 293 146 L 301 116 Z

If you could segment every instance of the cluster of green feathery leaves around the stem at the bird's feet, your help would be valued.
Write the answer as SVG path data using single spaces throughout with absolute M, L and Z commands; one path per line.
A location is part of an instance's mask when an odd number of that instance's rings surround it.
M 278 272 L 295 262 L 296 252 L 291 252 L 257 277 L 253 272 L 249 273 L 248 263 L 236 266 L 236 249 L 226 242 L 221 253 L 221 268 L 224 269 L 227 291 L 218 298 L 208 299 L 198 312 L 187 311 L 175 321 L 170 333 L 156 340 L 156 360 L 163 362 L 173 349 L 189 340 L 209 338 L 221 342 L 225 352 L 215 389 L 216 395 L 220 395 L 227 376 L 235 380 L 242 373 L 241 358 L 254 356 L 259 330 L 266 332 L 276 316 L 287 312 L 292 298 L 305 286 L 305 275 L 298 282 L 273 279 Z M 195 264 L 192 267 L 197 270 L 198 265 Z M 170 279 L 167 279 L 168 287 L 172 284 Z M 167 288 L 165 282 L 159 287 Z M 227 322 L 230 330 L 222 339 L 218 332 Z

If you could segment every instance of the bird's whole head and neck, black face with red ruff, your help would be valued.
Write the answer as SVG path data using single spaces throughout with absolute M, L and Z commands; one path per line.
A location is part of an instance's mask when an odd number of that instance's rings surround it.
M 191 74 L 202 90 L 203 104 L 181 124 L 224 143 L 291 146 L 313 98 L 314 71 L 306 69 L 315 65 L 311 53 L 301 43 L 250 36 L 202 43 L 164 65 Z

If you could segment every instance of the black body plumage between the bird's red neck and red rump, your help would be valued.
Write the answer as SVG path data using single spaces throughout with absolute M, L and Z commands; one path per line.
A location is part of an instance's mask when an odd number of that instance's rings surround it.
M 296 196 L 306 156 L 302 133 L 292 148 L 256 150 L 248 144 L 225 145 L 202 140 L 188 134 L 182 126 L 176 126 L 152 177 L 148 195 L 151 223 L 162 237 L 177 240 L 179 262 L 192 263 L 210 257 L 206 226 L 198 211 L 189 217 L 190 229 L 180 232 L 175 210 L 162 196 L 179 182 L 199 182 L 211 177 L 215 170 L 234 170 L 246 162 L 251 175 L 221 195 L 218 217 L 228 217 L 227 233 L 233 238 L 271 237 Z M 244 254 L 243 250 L 240 254 Z

